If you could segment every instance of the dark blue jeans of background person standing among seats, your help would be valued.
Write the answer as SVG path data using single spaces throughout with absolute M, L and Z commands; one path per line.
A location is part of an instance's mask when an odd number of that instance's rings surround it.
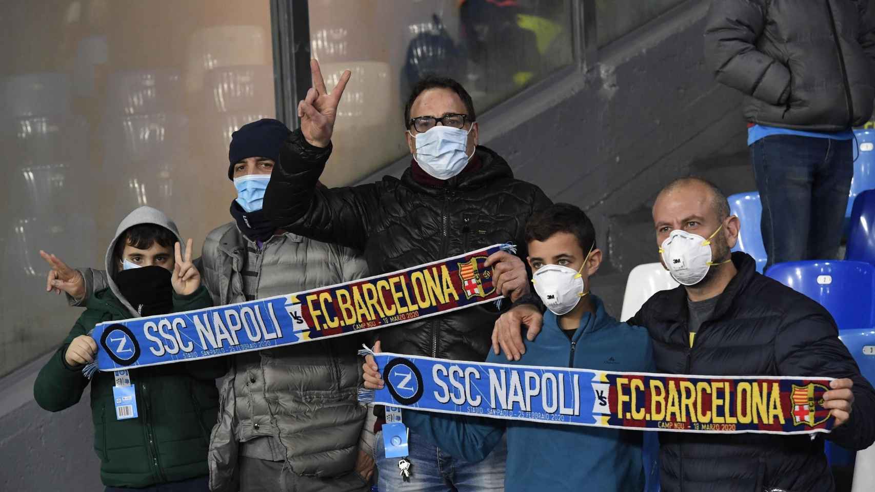
M 796 135 L 753 142 L 766 268 L 836 259 L 854 175 L 852 142 Z

